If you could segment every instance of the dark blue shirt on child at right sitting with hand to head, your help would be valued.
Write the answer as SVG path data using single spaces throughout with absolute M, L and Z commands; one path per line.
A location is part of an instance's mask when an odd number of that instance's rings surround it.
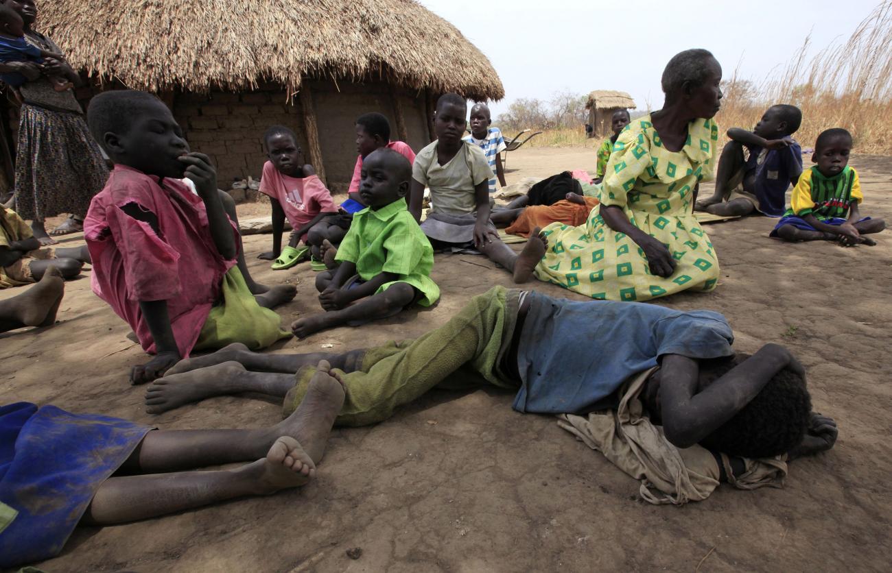
M 802 149 L 793 141 L 789 147 L 766 150 L 749 148 L 745 173 L 755 171 L 754 193 L 759 211 L 768 217 L 782 217 L 786 209 L 785 194 L 793 177 L 802 175 Z

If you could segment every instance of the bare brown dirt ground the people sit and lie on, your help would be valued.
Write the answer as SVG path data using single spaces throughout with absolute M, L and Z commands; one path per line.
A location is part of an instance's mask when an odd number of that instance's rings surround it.
M 583 149 L 510 154 L 508 183 L 591 168 Z M 865 215 L 892 220 L 892 158 L 855 157 Z M 708 189 L 706 191 L 711 191 Z M 243 217 L 268 212 L 243 206 Z M 436 391 L 374 427 L 335 430 L 318 479 L 301 490 L 237 500 L 158 520 L 79 528 L 46 571 L 888 570 L 892 407 L 888 379 L 892 232 L 879 246 L 783 244 L 772 219 L 708 225 L 723 276 L 710 294 L 657 304 L 726 315 L 735 347 L 791 348 L 809 372 L 816 411 L 839 424 L 835 449 L 794 462 L 786 486 L 720 487 L 678 508 L 638 500 L 639 484 L 576 442 L 555 419 L 511 410 L 496 390 Z M 80 235 L 64 246 L 80 244 Z M 246 237 L 252 274 L 293 282 L 285 323 L 318 312 L 313 273 L 273 272 L 256 258 L 268 235 Z M 129 368 L 146 360 L 128 327 L 91 293 L 67 285 L 52 328 L 0 335 L 0 404 L 28 400 L 106 413 L 163 429 L 259 427 L 280 405 L 223 397 L 151 416 Z M 347 350 L 414 337 L 507 273 L 473 256 L 437 256 L 442 301 L 362 328 L 289 340 L 276 352 Z M 576 298 L 541 282 L 536 290 Z M 0 292 L 8 298 L 21 292 Z M 573 351 L 573 349 L 569 349 Z M 581 348 L 582 351 L 584 349 Z M 361 548 L 358 560 L 347 550 Z

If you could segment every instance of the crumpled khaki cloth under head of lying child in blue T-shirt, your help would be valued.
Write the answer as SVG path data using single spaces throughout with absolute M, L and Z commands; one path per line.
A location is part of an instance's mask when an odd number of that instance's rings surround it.
M 644 383 L 657 368 L 641 372 L 620 389 L 622 398 L 614 411 L 588 416 L 558 415 L 558 426 L 591 449 L 599 450 L 616 467 L 641 482 L 640 495 L 648 503 L 681 505 L 709 497 L 719 486 L 721 475 L 714 455 L 702 446 L 673 446 L 655 426 L 643 417 L 639 396 Z M 721 455 L 729 483 L 739 489 L 783 487 L 787 463 L 781 456 L 749 460 L 742 458 L 745 471 L 734 477 L 731 463 Z

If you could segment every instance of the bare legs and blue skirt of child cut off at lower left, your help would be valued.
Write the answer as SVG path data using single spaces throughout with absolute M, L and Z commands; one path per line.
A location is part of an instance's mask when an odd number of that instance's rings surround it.
M 329 368 L 319 364 L 293 415 L 257 430 L 152 431 L 52 405 L 0 407 L 0 568 L 53 557 L 78 524 L 147 520 L 304 485 L 343 404 Z M 251 463 L 184 471 L 233 462 Z

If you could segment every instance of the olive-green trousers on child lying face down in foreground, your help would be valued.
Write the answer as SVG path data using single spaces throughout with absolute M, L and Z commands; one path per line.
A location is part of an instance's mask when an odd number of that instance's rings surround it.
M 340 426 L 364 426 L 389 418 L 429 389 L 468 388 L 491 384 L 517 389 L 500 364 L 511 345 L 520 291 L 493 287 L 471 299 L 458 315 L 416 340 L 369 348 L 358 372 L 341 374 L 347 387 Z M 285 415 L 301 403 L 315 367 L 297 372 L 285 397 Z

